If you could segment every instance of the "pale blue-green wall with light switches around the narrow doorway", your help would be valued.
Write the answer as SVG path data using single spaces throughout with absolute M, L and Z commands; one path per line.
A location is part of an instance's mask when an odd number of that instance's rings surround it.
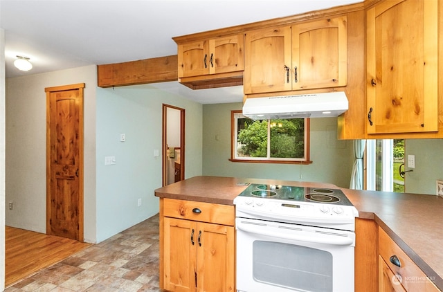
M 159 212 L 163 103 L 185 109 L 185 176 L 201 175 L 201 104 L 150 85 L 97 89 L 98 242 Z M 105 156 L 116 164 L 105 165 Z

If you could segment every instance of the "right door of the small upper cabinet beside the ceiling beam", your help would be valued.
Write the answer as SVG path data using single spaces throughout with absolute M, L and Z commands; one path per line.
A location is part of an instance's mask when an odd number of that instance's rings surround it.
M 210 74 L 243 71 L 243 34 L 210 39 L 209 52 Z

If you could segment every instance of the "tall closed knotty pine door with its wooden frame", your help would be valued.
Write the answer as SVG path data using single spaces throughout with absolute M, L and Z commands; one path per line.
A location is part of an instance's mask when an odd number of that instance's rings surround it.
M 83 88 L 46 88 L 46 233 L 83 241 Z

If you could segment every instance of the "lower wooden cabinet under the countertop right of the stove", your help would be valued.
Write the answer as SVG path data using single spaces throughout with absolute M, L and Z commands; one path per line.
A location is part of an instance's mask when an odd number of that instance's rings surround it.
M 379 291 L 440 291 L 381 228 L 379 228 Z

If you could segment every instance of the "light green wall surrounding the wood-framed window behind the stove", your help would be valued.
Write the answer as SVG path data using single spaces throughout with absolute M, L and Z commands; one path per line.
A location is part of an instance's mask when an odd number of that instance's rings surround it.
M 348 188 L 352 171 L 352 141 L 337 140 L 336 118 L 311 119 L 310 165 L 233 163 L 230 158 L 230 111 L 242 103 L 204 104 L 203 174 L 242 178 L 334 183 Z

